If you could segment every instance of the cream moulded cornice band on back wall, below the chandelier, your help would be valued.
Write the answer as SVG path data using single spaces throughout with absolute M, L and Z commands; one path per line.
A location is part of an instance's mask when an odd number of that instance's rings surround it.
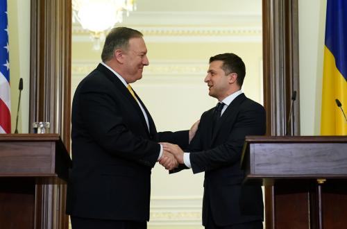
M 262 42 L 262 15 L 230 12 L 131 12 L 118 26 L 141 31 L 146 42 Z M 90 42 L 75 22 L 73 42 Z

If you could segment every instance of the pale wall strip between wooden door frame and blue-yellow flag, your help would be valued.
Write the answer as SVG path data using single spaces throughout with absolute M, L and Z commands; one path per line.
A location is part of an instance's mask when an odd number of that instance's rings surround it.
M 319 135 L 326 0 L 299 0 L 301 135 Z

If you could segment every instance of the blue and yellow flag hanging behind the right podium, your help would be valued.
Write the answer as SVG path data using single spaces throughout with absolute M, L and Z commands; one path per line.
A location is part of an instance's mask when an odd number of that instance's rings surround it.
M 325 24 L 321 135 L 347 135 L 347 1 L 328 0 Z M 347 114 L 346 114 L 347 115 Z

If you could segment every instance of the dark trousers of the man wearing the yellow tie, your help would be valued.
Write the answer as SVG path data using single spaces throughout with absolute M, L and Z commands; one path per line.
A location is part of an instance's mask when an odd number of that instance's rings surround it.
M 72 229 L 146 229 L 147 222 L 70 217 Z

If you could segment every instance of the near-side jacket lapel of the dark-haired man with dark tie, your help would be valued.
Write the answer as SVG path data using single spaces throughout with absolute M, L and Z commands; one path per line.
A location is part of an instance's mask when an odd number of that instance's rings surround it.
M 237 113 L 239 112 L 239 105 L 242 103 L 242 101 L 244 101 L 244 99 L 246 99 L 246 96 L 244 94 L 240 94 L 228 105 L 228 108 L 226 108 L 226 110 L 223 112 L 221 118 L 217 122 L 217 125 L 214 126 L 211 143 L 214 142 L 219 133 L 223 132 L 223 130 L 226 128 L 230 128 L 230 125 L 234 124 Z

